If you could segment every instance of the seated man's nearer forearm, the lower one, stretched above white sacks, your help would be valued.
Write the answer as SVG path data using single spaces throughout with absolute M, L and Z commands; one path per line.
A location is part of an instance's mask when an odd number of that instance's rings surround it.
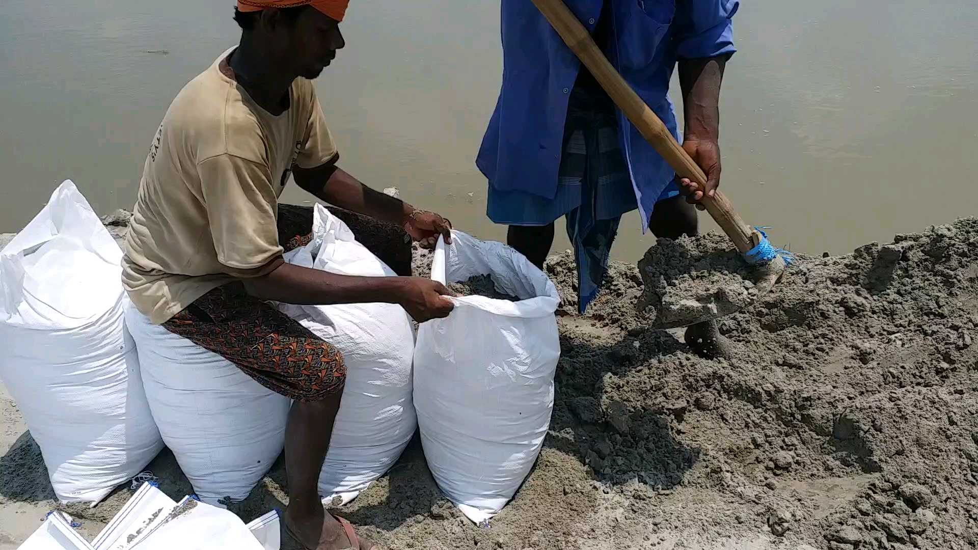
M 298 305 L 331 303 L 399 303 L 403 277 L 356 277 L 283 263 L 271 273 L 242 279 L 244 289 L 255 298 Z

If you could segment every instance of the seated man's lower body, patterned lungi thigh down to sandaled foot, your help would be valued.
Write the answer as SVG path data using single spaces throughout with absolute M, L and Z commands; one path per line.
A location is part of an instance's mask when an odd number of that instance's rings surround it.
M 279 223 L 287 250 L 307 242 L 303 235 L 309 226 L 303 226 L 301 216 L 286 213 Z M 243 324 L 250 325 L 247 335 L 241 332 Z M 349 547 L 345 529 L 326 514 L 317 487 L 343 394 L 342 353 L 285 313 L 248 296 L 241 283 L 210 291 L 163 327 L 220 354 L 269 390 L 295 399 L 286 424 L 289 507 L 284 524 L 306 548 Z

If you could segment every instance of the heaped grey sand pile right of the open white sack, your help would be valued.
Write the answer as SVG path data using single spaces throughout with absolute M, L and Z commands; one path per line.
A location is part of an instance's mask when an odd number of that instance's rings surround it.
M 730 361 L 642 331 L 620 305 L 640 292 L 634 268 L 616 265 L 588 314 L 603 337 L 561 319 L 555 432 L 563 420 L 616 491 L 654 489 L 637 516 L 695 544 L 762 531 L 833 549 L 974 547 L 976 259 L 973 218 L 800 257 L 721 322 Z M 559 281 L 572 269 L 567 254 L 549 264 Z

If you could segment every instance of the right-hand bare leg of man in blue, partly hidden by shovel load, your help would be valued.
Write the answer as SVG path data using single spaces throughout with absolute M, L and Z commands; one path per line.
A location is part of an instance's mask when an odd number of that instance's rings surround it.
M 684 197 L 673 197 L 656 203 L 648 216 L 648 228 L 656 237 L 678 239 L 683 235 L 692 237 L 699 232 L 696 207 L 686 202 Z M 730 357 L 731 345 L 720 335 L 716 321 L 706 321 L 692 325 L 686 330 L 686 344 L 707 357 Z

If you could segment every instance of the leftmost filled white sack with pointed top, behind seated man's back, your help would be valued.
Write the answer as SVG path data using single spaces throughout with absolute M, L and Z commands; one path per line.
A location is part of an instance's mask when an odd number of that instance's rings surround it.
M 64 502 L 94 505 L 163 446 L 125 329 L 121 258 L 71 181 L 0 252 L 0 380 Z

